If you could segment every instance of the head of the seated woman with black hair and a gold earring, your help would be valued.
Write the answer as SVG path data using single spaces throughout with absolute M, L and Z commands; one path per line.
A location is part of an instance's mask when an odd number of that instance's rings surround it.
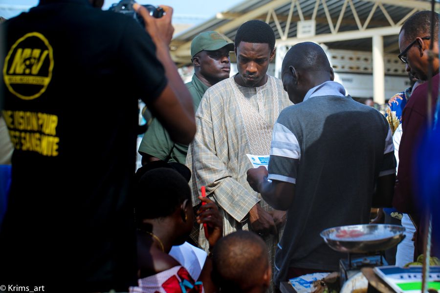
M 146 171 L 137 183 L 135 216 L 139 228 L 146 222 L 152 223 L 148 220 L 173 220 L 179 234 L 176 244 L 183 243 L 194 222 L 191 190 L 186 179 L 173 168 Z

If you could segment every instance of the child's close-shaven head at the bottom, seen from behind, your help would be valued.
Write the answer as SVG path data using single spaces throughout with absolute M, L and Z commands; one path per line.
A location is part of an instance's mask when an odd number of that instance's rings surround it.
M 266 292 L 271 277 L 267 246 L 257 234 L 237 231 L 214 247 L 212 280 L 221 292 Z

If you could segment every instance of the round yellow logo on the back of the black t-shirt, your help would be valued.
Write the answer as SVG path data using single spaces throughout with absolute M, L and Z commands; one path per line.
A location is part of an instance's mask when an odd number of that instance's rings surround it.
M 40 33 L 25 34 L 9 50 L 3 66 L 9 91 L 23 100 L 41 96 L 52 78 L 53 50 Z

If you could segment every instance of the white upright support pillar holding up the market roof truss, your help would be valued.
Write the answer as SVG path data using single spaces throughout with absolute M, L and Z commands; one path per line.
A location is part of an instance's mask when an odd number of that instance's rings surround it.
M 383 56 L 383 36 L 373 36 L 373 100 L 385 104 L 385 64 Z

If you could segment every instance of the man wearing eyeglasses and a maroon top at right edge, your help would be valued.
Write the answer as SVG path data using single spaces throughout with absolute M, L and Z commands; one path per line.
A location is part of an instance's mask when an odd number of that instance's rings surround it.
M 439 15 L 434 14 L 434 35 L 430 35 L 431 30 L 431 11 L 420 11 L 412 15 L 403 24 L 399 34 L 400 54 L 398 58 L 405 63 L 406 71 L 410 72 L 415 78 L 426 81 L 432 78 L 432 107 L 435 109 L 437 93 L 439 89 Z M 429 46 L 433 43 L 433 67 L 429 71 Z M 437 57 L 436 57 L 437 56 Z M 402 114 L 402 138 L 399 146 L 399 166 L 397 170 L 397 180 L 395 195 L 393 199 L 394 207 L 404 213 L 408 213 L 413 219 L 416 230 L 416 240 L 414 243 L 414 256 L 423 253 L 423 233 L 424 224 L 420 213 L 418 200 L 417 182 L 414 182 L 415 154 L 421 135 L 426 131 L 428 117 L 433 116 L 429 113 L 428 107 L 428 83 L 419 85 L 412 93 L 411 99 L 403 109 Z M 436 151 L 436 150 L 433 150 Z M 439 251 L 437 251 L 437 254 Z M 432 251 L 436 255 L 436 251 Z

